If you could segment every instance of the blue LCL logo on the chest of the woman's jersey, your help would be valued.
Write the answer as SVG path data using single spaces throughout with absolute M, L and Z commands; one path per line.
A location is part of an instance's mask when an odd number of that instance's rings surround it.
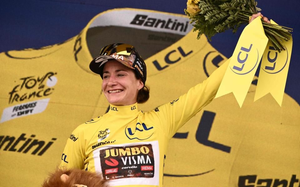
M 145 123 L 137 123 L 135 129 L 126 126 L 125 135 L 130 140 L 146 140 L 153 135 L 153 126 L 147 126 Z

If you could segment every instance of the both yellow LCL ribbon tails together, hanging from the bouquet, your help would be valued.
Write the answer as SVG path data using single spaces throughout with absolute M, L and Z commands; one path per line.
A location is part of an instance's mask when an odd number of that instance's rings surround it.
M 240 107 L 246 98 L 254 74 L 262 59 L 255 99 L 271 93 L 281 106 L 287 70 L 292 50 L 292 40 L 282 42 L 286 50 L 277 52 L 268 42 L 261 17 L 249 23 L 237 42 L 229 65 L 217 91 L 217 97 L 233 93 Z

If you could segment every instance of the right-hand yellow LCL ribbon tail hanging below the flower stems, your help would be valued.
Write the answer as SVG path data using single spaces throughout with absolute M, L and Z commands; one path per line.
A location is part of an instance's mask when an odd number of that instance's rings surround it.
M 272 24 L 276 24 L 271 20 Z M 284 88 L 287 80 L 287 71 L 290 64 L 292 52 L 292 38 L 288 41 L 280 42 L 286 50 L 279 53 L 274 49 L 271 42 L 262 55 L 262 64 L 259 71 L 258 82 L 254 101 L 262 98 L 267 93 L 271 93 L 273 98 L 281 106 Z

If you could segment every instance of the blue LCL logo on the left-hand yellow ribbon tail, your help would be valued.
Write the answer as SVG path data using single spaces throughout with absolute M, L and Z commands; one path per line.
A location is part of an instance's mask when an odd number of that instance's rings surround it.
M 237 62 L 239 64 L 236 63 L 235 65 L 233 65 L 233 67 L 230 67 L 230 69 L 234 73 L 240 74 L 240 75 L 250 73 L 252 70 L 254 70 L 254 68 L 256 67 L 256 65 L 258 63 L 258 50 L 257 50 L 257 60 L 253 67 L 247 65 L 247 59 L 248 59 L 249 55 L 256 55 L 255 50 L 252 48 L 252 44 L 250 44 L 250 47 L 248 47 L 248 48 L 241 47 L 241 50 L 239 51 L 239 53 L 237 55 Z M 241 59 L 241 56 L 245 56 L 245 57 L 243 59 Z M 232 58 L 235 58 L 235 57 L 232 57 Z

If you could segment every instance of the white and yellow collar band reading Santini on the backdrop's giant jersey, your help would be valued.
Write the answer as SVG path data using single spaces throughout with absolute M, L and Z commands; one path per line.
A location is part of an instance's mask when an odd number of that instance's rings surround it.
M 125 17 L 120 17 L 120 15 L 126 15 Z M 97 26 L 122 26 L 122 27 L 130 27 L 130 28 L 137 28 L 141 29 L 140 24 L 132 24 L 133 20 L 136 19 L 136 15 L 145 15 L 146 17 L 149 17 L 149 19 L 153 19 L 151 17 L 163 17 L 165 20 L 176 20 L 180 19 L 182 23 L 184 23 L 184 28 L 182 29 L 173 29 L 169 28 L 167 25 L 165 27 L 154 27 L 154 26 L 142 26 L 143 30 L 150 30 L 150 31 L 162 31 L 166 33 L 175 33 L 180 35 L 185 35 L 189 31 L 192 30 L 193 26 L 191 24 L 188 24 L 189 20 L 187 16 L 185 15 L 179 15 L 179 14 L 171 14 L 171 13 L 165 13 L 165 12 L 158 12 L 158 11 L 151 11 L 151 10 L 142 10 L 142 9 L 133 9 L 133 8 L 116 8 L 112 10 L 107 10 L 104 12 L 99 13 L 93 19 L 91 19 L 87 26 L 84 27 L 84 29 L 74 37 L 75 40 L 73 44 L 72 52 L 74 54 L 74 58 L 76 63 L 80 66 L 81 69 L 86 71 L 89 74 L 94 74 L 90 69 L 89 65 L 90 62 L 93 60 L 93 57 L 88 49 L 87 45 L 87 31 L 90 28 L 97 27 Z M 114 19 L 117 17 L 118 19 Z M 142 21 L 142 20 L 135 20 L 136 22 Z M 175 21 L 175 22 L 176 22 Z M 173 24 L 175 24 L 175 22 Z M 175 26 L 175 25 L 172 25 Z M 170 26 L 171 27 L 171 26 Z M 103 36 L 103 37 L 110 37 Z M 124 36 L 126 37 L 126 36 Z M 112 38 L 112 41 L 114 39 Z M 117 42 L 117 41 L 114 41 Z M 101 50 L 101 47 L 108 45 L 109 43 L 99 43 L 97 44 L 99 47 L 99 52 Z M 144 59 L 146 60 L 146 59 Z M 97 74 L 94 74 L 95 76 Z M 99 76 L 99 75 L 97 75 Z

